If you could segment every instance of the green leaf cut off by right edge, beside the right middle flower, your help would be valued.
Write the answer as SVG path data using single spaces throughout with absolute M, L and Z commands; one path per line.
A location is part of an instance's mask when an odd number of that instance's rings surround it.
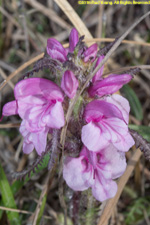
M 129 124 L 129 128 L 137 131 L 144 139 L 150 141 L 150 127 L 143 125 Z

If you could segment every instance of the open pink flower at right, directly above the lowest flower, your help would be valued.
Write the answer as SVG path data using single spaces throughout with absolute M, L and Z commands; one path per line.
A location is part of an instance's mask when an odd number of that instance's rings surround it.
M 90 102 L 84 111 L 84 145 L 96 152 L 112 143 L 119 151 L 128 151 L 134 145 L 128 131 L 129 110 L 128 101 L 120 95 Z

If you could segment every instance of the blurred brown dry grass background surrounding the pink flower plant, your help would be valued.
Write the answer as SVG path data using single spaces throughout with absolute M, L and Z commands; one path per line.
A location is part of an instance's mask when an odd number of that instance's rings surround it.
M 89 29 L 94 38 L 116 38 L 123 34 L 136 19 L 150 10 L 149 5 L 79 5 L 78 1 L 68 1 Z M 45 52 L 47 39 L 56 38 L 62 44 L 68 42 L 73 25 L 53 0 L 0 0 L 0 86 L 3 81 L 30 59 Z M 77 27 L 76 27 L 77 28 Z M 126 38 L 128 43 L 121 44 L 105 66 L 112 71 L 126 66 L 150 64 L 150 19 L 147 17 Z M 130 42 L 134 41 L 134 43 Z M 100 47 L 106 41 L 97 42 Z M 147 43 L 147 44 L 146 44 Z M 31 70 L 25 68 L 11 79 L 0 92 L 2 106 L 14 99 L 15 84 Z M 44 73 L 44 74 L 43 74 Z M 48 71 L 39 76 L 48 77 Z M 130 127 L 139 131 L 150 141 L 150 73 L 141 70 L 129 85 L 125 85 L 121 94 L 128 98 L 131 106 Z M 28 167 L 34 162 L 35 153 L 22 154 L 22 137 L 18 131 L 20 118 L 3 118 L 0 124 L 0 162 L 10 187 L 13 184 L 11 174 Z M 15 124 L 15 125 L 13 125 Z M 131 153 L 127 154 L 130 159 Z M 150 164 L 142 156 L 137 162 L 134 173 L 128 180 L 121 198 L 114 209 L 111 225 L 150 225 Z M 17 222 L 12 222 L 5 210 L 0 211 L 0 224 L 32 224 L 34 212 L 43 190 L 47 170 L 34 174 L 27 183 L 15 183 L 12 195 L 17 208 L 25 210 Z M 0 177 L 2 178 L 2 177 Z M 54 176 L 39 222 L 35 224 L 63 224 L 63 210 L 58 198 L 58 179 Z M 17 186 L 19 185 L 19 186 Z M 72 196 L 70 190 L 67 197 Z M 1 193 L 2 194 L 2 193 Z M 83 198 L 84 199 L 84 198 Z M 69 203 L 68 203 L 69 204 Z M 9 204 L 8 204 L 9 205 Z M 82 208 L 86 208 L 83 200 Z M 0 206 L 4 206 L 0 202 Z M 9 205 L 9 208 L 14 208 Z M 98 207 L 96 205 L 96 207 Z M 99 208 L 98 208 L 99 209 Z M 11 212 L 11 211 L 10 211 Z M 36 211 L 37 212 L 37 211 Z M 95 211 L 90 211 L 93 218 Z M 17 214 L 13 214 L 15 217 Z M 43 216 L 44 215 L 44 216 Z M 97 218 L 99 214 L 96 214 Z M 87 214 L 84 214 L 87 216 Z M 16 216 L 16 218 L 18 218 Z M 21 222 L 20 222 L 21 221 Z M 84 221 L 84 220 L 83 220 Z M 82 222 L 83 222 L 82 221 Z M 96 219 L 84 224 L 96 224 Z M 68 224 L 72 224 L 69 220 Z M 75 223 L 74 223 L 75 224 Z M 76 223 L 77 224 L 77 223 Z M 78 224 L 82 224 L 81 222 Z

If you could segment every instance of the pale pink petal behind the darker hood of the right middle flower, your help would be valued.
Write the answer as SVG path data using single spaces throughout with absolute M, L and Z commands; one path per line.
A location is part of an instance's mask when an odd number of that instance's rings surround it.
M 130 112 L 128 100 L 121 95 L 113 94 L 110 97 L 106 97 L 106 101 L 117 106 L 117 108 L 122 112 L 124 120 L 128 124 Z

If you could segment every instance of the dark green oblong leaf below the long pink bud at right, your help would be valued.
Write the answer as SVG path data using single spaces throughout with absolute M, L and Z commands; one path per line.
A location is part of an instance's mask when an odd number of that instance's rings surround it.
M 136 96 L 135 92 L 132 90 L 132 88 L 128 84 L 124 85 L 122 90 L 125 94 L 125 97 L 128 99 L 130 103 L 131 113 L 136 117 L 136 119 L 142 120 L 143 110 L 142 110 L 141 103 L 138 97 Z

